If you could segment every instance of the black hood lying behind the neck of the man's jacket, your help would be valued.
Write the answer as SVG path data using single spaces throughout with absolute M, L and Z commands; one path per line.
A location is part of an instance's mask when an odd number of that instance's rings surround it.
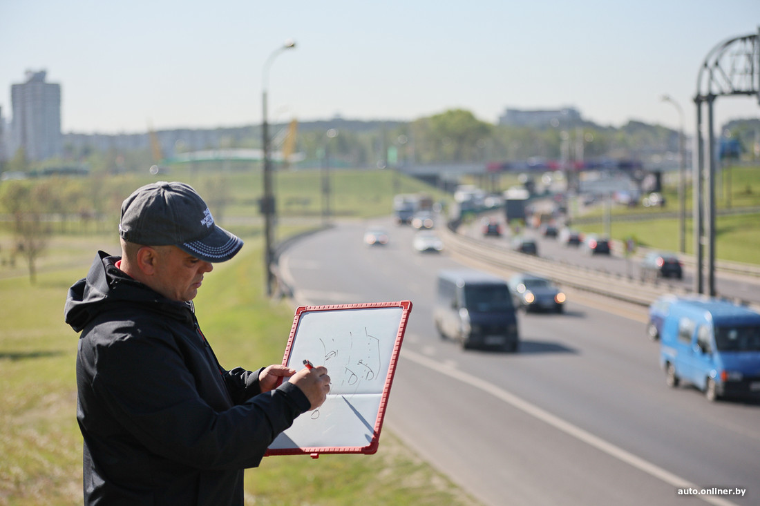
M 121 257 L 98 251 L 87 277 L 78 280 L 68 289 L 64 308 L 65 322 L 80 332 L 90 321 L 112 308 L 126 303 L 144 305 L 146 309 L 160 310 L 166 316 L 185 319 L 192 303 L 176 302 L 132 279 L 116 267 Z

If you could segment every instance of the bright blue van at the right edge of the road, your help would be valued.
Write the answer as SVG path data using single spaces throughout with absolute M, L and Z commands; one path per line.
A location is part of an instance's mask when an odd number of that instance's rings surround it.
M 760 313 L 723 299 L 677 299 L 660 330 L 660 366 L 670 387 L 687 381 L 708 400 L 760 397 Z

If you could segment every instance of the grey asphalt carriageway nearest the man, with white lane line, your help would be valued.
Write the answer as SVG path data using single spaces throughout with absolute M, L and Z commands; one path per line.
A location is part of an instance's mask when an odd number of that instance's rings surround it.
M 363 244 L 370 223 L 388 245 Z M 436 273 L 459 264 L 412 238 L 340 223 L 280 256 L 297 304 L 413 302 L 384 430 L 487 506 L 760 504 L 760 403 L 667 387 L 644 308 L 571 293 L 565 314 L 519 315 L 519 353 L 464 351 L 432 322 Z M 678 494 L 714 488 L 746 492 Z

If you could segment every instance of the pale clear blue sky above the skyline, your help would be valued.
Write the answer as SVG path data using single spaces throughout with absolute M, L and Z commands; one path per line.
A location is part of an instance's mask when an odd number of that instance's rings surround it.
M 273 123 L 570 106 L 677 129 L 669 95 L 688 134 L 711 49 L 757 33 L 760 0 L 0 0 L 0 107 L 46 70 L 65 133 L 258 125 L 265 88 Z M 720 97 L 714 117 L 760 105 Z

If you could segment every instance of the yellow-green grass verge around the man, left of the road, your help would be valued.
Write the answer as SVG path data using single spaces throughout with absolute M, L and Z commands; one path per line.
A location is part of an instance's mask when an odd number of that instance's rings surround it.
M 293 307 L 263 295 L 261 239 L 244 239 L 195 299 L 204 333 L 230 368 L 280 363 L 293 322 Z M 51 262 L 36 285 L 24 276 L 0 279 L 0 504 L 81 504 L 78 334 L 64 324 L 63 304 L 68 286 L 87 274 L 93 242 L 69 237 L 65 261 Z M 475 502 L 387 428 L 372 456 L 267 457 L 246 471 L 245 495 L 246 504 L 283 506 Z

